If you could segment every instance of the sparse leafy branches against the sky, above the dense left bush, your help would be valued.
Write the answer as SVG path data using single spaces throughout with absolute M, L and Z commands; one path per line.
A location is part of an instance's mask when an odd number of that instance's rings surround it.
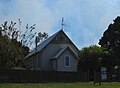
M 31 46 L 33 43 L 33 39 L 36 35 L 36 32 L 33 32 L 35 29 L 35 24 L 30 26 L 27 24 L 25 31 L 21 30 L 22 21 L 19 19 L 19 27 L 17 27 L 17 23 L 11 21 L 5 21 L 0 25 L 0 35 L 7 37 L 11 40 L 16 40 L 22 43 L 25 46 Z

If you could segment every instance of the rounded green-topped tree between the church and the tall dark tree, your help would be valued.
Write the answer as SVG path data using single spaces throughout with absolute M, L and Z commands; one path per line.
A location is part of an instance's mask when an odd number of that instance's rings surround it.
M 96 45 L 82 48 L 79 52 L 78 70 L 96 70 L 102 54 L 103 49 Z

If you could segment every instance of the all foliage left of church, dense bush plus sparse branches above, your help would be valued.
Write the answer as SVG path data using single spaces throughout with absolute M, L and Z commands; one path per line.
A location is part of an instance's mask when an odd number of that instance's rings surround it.
M 19 19 L 19 27 L 13 21 L 10 23 L 5 21 L 0 25 L 0 69 L 25 67 L 25 56 L 29 53 L 29 47 L 35 42 L 36 32 L 33 32 L 35 24 L 30 27 L 27 24 L 25 32 L 23 32 L 21 23 L 22 21 Z M 39 41 L 47 37 L 48 34 L 45 32 L 40 32 L 37 36 Z

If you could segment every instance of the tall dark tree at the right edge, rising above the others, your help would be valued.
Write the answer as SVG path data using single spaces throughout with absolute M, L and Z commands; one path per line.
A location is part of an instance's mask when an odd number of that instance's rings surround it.
M 111 61 L 114 62 L 113 67 L 120 66 L 120 16 L 108 26 L 103 37 L 99 40 L 99 45 L 106 48 L 111 54 Z

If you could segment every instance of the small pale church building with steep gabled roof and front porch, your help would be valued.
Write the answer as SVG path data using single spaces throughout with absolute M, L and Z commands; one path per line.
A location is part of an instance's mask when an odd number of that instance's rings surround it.
M 41 71 L 76 72 L 79 49 L 61 29 L 26 56 L 27 67 Z

